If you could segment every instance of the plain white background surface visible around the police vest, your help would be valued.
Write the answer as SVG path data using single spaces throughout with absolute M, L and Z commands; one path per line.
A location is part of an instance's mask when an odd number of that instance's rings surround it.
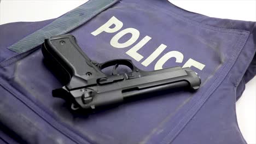
M 1 1 L 1 0 L 0 0 Z M 139 0 L 138 0 L 139 1 Z M 87 0 L 2 0 L 0 25 L 17 21 L 53 19 Z M 256 0 L 170 0 L 185 10 L 223 19 L 256 21 Z M 256 77 L 236 103 L 237 121 L 248 143 L 256 143 Z

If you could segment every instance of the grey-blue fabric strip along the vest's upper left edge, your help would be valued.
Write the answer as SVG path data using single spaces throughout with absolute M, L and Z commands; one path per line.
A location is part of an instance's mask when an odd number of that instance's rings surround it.
M 53 35 L 64 34 L 72 31 L 74 28 L 77 28 L 90 20 L 92 17 L 101 13 L 104 9 L 109 8 L 117 1 L 118 0 L 91 0 L 62 15 L 49 25 L 27 35 L 27 37 L 11 45 L 8 49 L 19 53 L 33 49 L 34 47 L 42 44 L 44 39 L 48 39 Z

